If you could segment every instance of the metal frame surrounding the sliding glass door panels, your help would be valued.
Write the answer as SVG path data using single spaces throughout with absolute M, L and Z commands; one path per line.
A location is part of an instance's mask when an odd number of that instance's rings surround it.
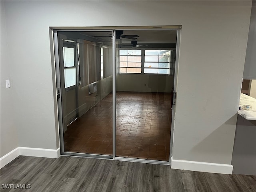
M 63 114 L 62 114 L 62 94 L 63 90 L 60 91 L 60 99 L 57 98 L 58 103 L 58 124 L 59 124 L 59 136 L 60 136 L 60 151 L 61 155 L 65 156 L 79 156 L 87 158 L 100 158 L 100 159 L 111 159 L 129 162 L 141 162 L 150 164 L 171 164 L 172 158 L 172 147 L 174 141 L 174 121 L 175 121 L 175 109 L 176 105 L 172 106 L 172 125 L 171 125 L 171 138 L 170 138 L 170 157 L 169 161 L 158 161 L 158 160 L 144 160 L 135 158 L 122 158 L 116 157 L 116 30 L 177 30 L 177 42 L 176 42 L 176 60 L 175 60 L 175 72 L 174 72 L 174 92 L 177 92 L 177 80 L 178 80 L 178 61 L 180 52 L 180 36 L 181 36 L 181 26 L 127 26 L 127 27 L 50 27 L 52 30 L 54 55 L 55 55 L 55 71 L 56 71 L 56 89 L 61 88 L 60 83 L 60 61 L 58 52 L 58 31 L 112 31 L 112 99 L 113 99 L 113 154 L 112 155 L 100 155 L 100 154 L 84 154 L 76 152 L 65 152 L 64 151 L 64 133 L 63 133 Z M 60 89 L 61 90 L 61 89 Z M 58 93 L 57 93 L 58 96 Z M 61 123 L 60 123 L 61 122 Z

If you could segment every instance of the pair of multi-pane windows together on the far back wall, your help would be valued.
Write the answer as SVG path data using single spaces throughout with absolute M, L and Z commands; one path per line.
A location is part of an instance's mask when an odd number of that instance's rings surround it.
M 119 50 L 119 73 L 174 74 L 175 50 Z

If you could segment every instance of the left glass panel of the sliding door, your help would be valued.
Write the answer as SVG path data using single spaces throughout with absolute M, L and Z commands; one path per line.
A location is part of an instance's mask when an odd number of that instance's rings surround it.
M 112 31 L 58 32 L 62 153 L 112 155 Z

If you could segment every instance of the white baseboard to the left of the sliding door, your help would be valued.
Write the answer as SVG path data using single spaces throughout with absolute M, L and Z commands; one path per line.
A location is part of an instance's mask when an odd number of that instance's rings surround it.
M 60 148 L 58 149 L 41 149 L 30 147 L 17 147 L 8 154 L 0 158 L 0 168 L 6 166 L 12 160 L 20 155 L 33 156 L 33 157 L 45 157 L 45 158 L 59 158 Z

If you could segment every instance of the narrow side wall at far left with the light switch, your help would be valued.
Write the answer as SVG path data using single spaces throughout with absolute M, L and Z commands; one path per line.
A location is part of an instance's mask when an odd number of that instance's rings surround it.
M 0 133 L 0 157 L 18 147 L 18 136 L 15 125 L 13 106 L 13 81 L 11 66 L 8 63 L 8 39 L 5 23 L 4 4 L 1 1 L 1 133 Z M 5 80 L 10 80 L 10 88 L 6 88 Z

